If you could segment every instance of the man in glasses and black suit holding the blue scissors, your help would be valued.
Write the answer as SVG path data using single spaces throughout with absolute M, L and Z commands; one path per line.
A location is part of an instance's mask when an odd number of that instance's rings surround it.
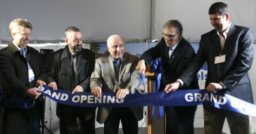
M 159 91 L 163 91 L 166 84 L 175 82 L 191 59 L 195 52 L 189 42 L 182 37 L 182 25 L 177 20 L 169 20 L 163 25 L 163 38 L 161 41 L 145 51 L 136 67 L 139 73 L 145 73 L 146 66 L 154 59 L 161 57 L 162 78 Z M 193 83 L 184 86 L 182 89 L 199 89 L 196 74 L 193 75 Z M 194 114 L 196 106 L 167 106 L 166 130 L 167 134 L 194 134 Z

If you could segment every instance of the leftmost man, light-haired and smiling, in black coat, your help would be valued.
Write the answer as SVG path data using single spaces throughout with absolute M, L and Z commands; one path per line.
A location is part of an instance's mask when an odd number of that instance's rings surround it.
M 0 50 L 0 86 L 4 90 L 0 134 L 40 134 L 41 95 L 47 73 L 37 50 L 27 46 L 32 26 L 25 19 L 9 25 L 12 42 Z

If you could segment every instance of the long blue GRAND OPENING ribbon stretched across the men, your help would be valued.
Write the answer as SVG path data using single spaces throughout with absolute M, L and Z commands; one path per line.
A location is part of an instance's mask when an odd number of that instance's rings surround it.
M 75 92 L 39 87 L 45 96 L 65 105 L 82 107 L 138 107 L 138 106 L 192 106 L 211 105 L 218 109 L 256 117 L 256 105 L 221 92 L 210 93 L 204 89 L 177 90 L 169 93 L 163 91 L 148 94 L 129 94 L 124 99 L 116 99 L 115 93 L 102 92 L 96 97 L 91 92 Z

